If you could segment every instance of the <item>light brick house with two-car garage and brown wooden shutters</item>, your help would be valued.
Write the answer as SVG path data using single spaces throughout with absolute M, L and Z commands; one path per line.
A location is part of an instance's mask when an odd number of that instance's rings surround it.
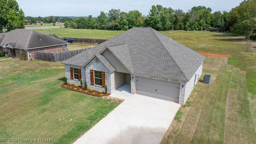
M 148 27 L 134 27 L 63 61 L 68 82 L 112 93 L 124 84 L 142 94 L 184 104 L 205 56 Z

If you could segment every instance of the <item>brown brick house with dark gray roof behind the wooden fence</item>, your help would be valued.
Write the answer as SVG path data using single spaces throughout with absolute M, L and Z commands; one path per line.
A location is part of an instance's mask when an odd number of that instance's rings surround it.
M 55 34 L 43 34 L 35 30 L 16 29 L 0 33 L 0 51 L 9 57 L 26 54 L 27 60 L 34 60 L 37 52 L 66 52 L 68 42 L 60 40 Z

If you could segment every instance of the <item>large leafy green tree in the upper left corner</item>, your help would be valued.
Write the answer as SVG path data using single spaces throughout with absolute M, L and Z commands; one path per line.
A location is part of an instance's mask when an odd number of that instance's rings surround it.
M 25 28 L 25 16 L 16 0 L 0 0 L 0 32 L 6 27 L 7 31 Z

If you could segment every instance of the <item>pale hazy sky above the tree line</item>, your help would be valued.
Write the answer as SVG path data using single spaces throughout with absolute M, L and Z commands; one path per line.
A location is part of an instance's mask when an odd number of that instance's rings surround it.
M 216 11 L 229 12 L 243 0 L 16 0 L 25 13 L 25 16 L 89 16 L 97 17 L 100 12 L 120 9 L 121 12 L 138 10 L 147 15 L 152 5 L 162 5 L 172 9 L 181 9 L 184 12 L 194 6 L 205 6 Z

